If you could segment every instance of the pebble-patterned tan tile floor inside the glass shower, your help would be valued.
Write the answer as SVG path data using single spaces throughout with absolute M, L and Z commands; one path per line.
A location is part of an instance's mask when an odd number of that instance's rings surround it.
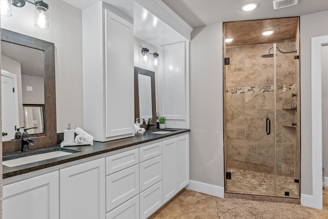
M 227 180 L 227 191 L 279 197 L 299 197 L 298 183 L 295 183 L 292 177 L 276 176 L 275 188 L 273 174 L 233 168 L 228 170 L 231 172 L 231 180 Z M 285 195 L 285 192 L 289 192 L 289 196 Z

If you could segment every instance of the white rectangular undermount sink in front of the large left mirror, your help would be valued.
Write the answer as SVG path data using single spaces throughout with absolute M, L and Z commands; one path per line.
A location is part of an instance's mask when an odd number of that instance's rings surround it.
M 7 167 L 16 167 L 24 164 L 30 164 L 38 161 L 45 161 L 51 158 L 69 155 L 79 151 L 66 148 L 49 148 L 43 150 L 35 150 L 30 152 L 16 152 L 10 155 L 3 156 L 2 164 Z

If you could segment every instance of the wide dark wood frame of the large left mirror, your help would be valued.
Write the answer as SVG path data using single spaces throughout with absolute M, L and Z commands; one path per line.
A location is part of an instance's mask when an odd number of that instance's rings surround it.
M 56 88 L 55 88 L 55 54 L 54 44 L 10 30 L 1 29 L 1 41 L 24 47 L 34 48 L 43 52 L 44 65 L 44 134 L 33 137 L 35 145 L 30 149 L 54 146 L 57 144 L 56 130 Z M 18 106 L 22 107 L 23 106 Z M 19 125 L 19 124 L 17 124 Z M 16 126 L 16 125 L 15 125 Z M 14 128 L 14 127 L 13 127 Z M 16 127 L 19 128 L 19 127 Z M 21 130 L 23 131 L 23 130 Z M 3 142 L 3 153 L 19 151 L 21 140 Z

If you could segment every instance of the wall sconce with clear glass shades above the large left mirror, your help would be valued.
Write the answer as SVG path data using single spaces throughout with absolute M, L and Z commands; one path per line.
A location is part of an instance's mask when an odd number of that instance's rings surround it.
M 35 27 L 40 29 L 49 28 L 49 5 L 42 0 L 0 0 L 1 15 L 11 16 L 11 5 L 21 8 L 25 2 L 35 5 Z

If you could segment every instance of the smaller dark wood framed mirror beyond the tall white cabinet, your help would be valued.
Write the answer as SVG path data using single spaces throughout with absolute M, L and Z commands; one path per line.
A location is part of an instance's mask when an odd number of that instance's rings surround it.
M 134 67 L 134 119 L 153 119 L 156 125 L 155 72 Z

